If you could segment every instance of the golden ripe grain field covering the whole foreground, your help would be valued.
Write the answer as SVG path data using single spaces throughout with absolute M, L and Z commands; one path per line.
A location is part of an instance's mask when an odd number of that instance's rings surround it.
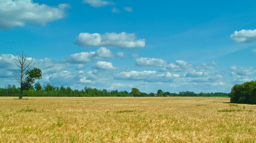
M 256 142 L 256 105 L 217 97 L 0 97 L 1 142 Z

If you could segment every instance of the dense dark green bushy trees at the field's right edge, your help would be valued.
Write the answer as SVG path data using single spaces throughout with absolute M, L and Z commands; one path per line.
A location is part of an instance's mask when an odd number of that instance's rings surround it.
M 232 103 L 256 104 L 256 80 L 234 85 L 230 94 Z

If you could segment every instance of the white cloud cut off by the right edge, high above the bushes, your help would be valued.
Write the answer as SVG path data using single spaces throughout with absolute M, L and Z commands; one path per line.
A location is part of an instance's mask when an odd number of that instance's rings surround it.
M 231 39 L 235 42 L 256 42 L 256 29 L 255 30 L 240 30 L 235 31 L 230 35 Z

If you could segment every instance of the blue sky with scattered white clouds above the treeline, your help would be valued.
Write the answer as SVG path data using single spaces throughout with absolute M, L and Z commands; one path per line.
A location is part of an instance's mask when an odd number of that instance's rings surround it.
M 60 3 L 61 2 L 61 3 Z M 24 51 L 42 85 L 230 92 L 256 79 L 255 1 L 0 1 L 0 87 Z

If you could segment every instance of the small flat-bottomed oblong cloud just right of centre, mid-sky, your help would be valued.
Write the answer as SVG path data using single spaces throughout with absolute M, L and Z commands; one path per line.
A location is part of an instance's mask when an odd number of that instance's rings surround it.
M 160 58 L 137 58 L 136 64 L 138 66 L 165 66 L 167 62 Z

